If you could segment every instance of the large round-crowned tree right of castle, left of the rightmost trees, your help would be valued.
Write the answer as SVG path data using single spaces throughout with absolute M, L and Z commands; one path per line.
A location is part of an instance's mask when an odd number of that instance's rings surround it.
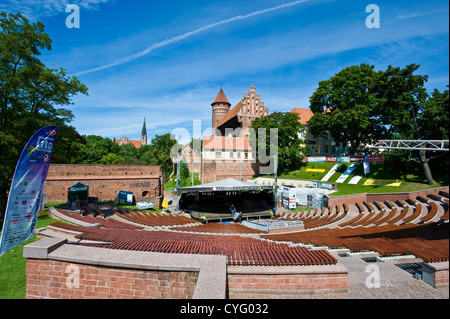
M 314 113 L 308 121 L 310 132 L 316 136 L 330 133 L 337 143 L 350 143 L 352 154 L 380 138 L 385 128 L 377 117 L 377 100 L 371 91 L 376 76 L 373 65 L 361 64 L 319 82 L 310 98 Z

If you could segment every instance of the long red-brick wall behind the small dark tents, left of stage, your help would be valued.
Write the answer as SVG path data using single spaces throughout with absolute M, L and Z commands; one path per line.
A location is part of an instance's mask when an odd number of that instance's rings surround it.
M 136 201 L 162 203 L 162 177 L 156 165 L 50 165 L 45 194 L 47 202 L 66 202 L 68 188 L 77 182 L 89 186 L 89 196 L 115 201 L 119 190 L 133 192 Z

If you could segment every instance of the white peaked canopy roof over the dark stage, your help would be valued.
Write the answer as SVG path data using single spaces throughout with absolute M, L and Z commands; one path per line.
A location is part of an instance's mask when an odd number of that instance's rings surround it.
M 206 183 L 201 185 L 180 187 L 179 192 L 214 192 L 214 191 L 243 191 L 243 190 L 262 190 L 262 189 L 273 189 L 271 185 L 260 185 L 250 182 L 239 181 L 234 178 L 226 178 L 220 181 L 215 181 L 212 183 Z

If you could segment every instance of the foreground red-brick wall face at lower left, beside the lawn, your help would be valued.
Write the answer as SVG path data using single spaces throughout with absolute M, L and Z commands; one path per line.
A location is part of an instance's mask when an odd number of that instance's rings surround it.
M 187 299 L 198 272 L 147 271 L 27 260 L 26 298 Z M 76 278 L 79 278 L 77 280 Z

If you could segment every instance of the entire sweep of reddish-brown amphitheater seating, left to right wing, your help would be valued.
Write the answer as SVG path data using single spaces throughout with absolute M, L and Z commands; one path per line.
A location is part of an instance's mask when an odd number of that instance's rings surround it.
M 116 207 L 110 207 L 112 216 L 109 216 L 98 206 L 80 207 L 81 214 L 58 211 L 100 227 L 59 222 L 50 227 L 70 231 L 83 245 L 166 253 L 219 254 L 227 256 L 229 265 L 336 263 L 336 259 L 326 250 L 310 250 L 286 242 L 353 252 L 374 251 L 380 256 L 410 254 L 425 262 L 448 261 L 448 197 L 439 195 L 423 198 L 426 201 L 419 198 L 416 198 L 417 201 L 385 200 L 354 203 L 351 207 L 342 204 L 334 209 L 281 212 L 277 219 L 302 220 L 305 231 L 280 234 L 262 234 L 260 230 L 235 223 L 199 224 L 184 216 Z M 355 216 L 346 218 L 349 213 L 355 212 Z M 327 227 L 331 224 L 337 227 Z M 164 227 L 164 230 L 144 226 Z M 258 235 L 267 241 L 255 238 Z M 97 243 L 87 244 L 86 241 Z

